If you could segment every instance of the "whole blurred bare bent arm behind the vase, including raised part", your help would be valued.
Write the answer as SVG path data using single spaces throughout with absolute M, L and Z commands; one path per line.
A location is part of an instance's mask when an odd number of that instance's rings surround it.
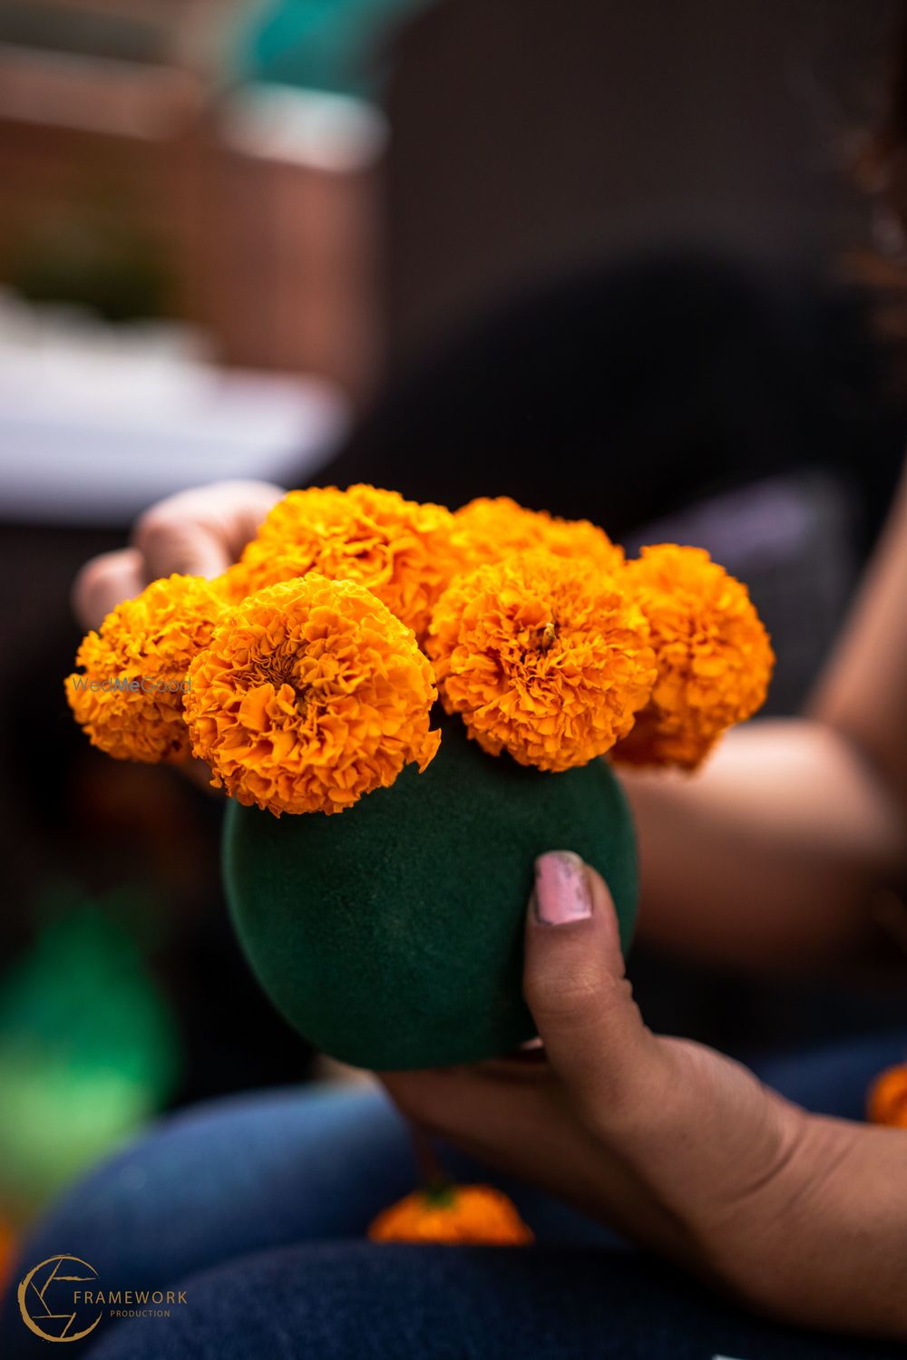
M 628 775 L 642 919 L 723 960 L 853 956 L 907 879 L 907 477 L 804 721 L 732 732 L 689 781 Z

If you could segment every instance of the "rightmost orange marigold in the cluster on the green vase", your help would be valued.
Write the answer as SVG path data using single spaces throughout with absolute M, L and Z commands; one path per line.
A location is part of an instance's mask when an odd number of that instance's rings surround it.
M 747 588 L 704 548 L 642 549 L 624 577 L 651 628 L 658 679 L 615 759 L 694 770 L 763 703 L 775 654 Z

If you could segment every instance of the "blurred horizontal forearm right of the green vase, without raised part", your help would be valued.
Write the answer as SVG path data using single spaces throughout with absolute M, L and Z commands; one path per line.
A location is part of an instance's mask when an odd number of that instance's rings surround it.
M 732 732 L 692 778 L 624 779 L 640 932 L 753 966 L 869 951 L 872 899 L 904 872 L 899 808 L 859 752 L 808 721 Z

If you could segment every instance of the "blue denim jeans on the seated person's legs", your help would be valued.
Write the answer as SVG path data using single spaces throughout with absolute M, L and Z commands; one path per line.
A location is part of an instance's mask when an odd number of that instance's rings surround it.
M 791 1099 L 858 1118 L 868 1080 L 900 1061 L 892 1035 L 760 1066 Z M 490 1179 L 450 1151 L 460 1179 Z M 169 1318 L 112 1321 L 75 1342 L 87 1360 L 804 1360 L 903 1353 L 749 1316 L 605 1228 L 495 1176 L 532 1248 L 374 1246 L 370 1219 L 412 1189 L 405 1126 L 374 1091 L 235 1098 L 156 1129 L 72 1190 L 23 1248 L 16 1278 L 60 1253 L 105 1289 L 185 1291 Z M 15 1296 L 4 1360 L 44 1356 Z

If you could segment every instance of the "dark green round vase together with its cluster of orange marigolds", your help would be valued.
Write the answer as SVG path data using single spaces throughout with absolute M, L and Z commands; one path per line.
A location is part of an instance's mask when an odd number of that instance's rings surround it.
M 290 492 L 223 577 L 154 583 L 79 660 L 95 745 L 174 758 L 188 734 L 234 800 L 230 906 L 279 1009 L 389 1072 L 533 1036 L 524 917 L 552 847 L 608 881 L 627 947 L 634 832 L 601 758 L 695 768 L 774 658 L 702 549 L 624 562 L 597 526 L 506 498 L 451 514 L 359 486 Z M 86 684 L 117 665 L 186 692 Z

